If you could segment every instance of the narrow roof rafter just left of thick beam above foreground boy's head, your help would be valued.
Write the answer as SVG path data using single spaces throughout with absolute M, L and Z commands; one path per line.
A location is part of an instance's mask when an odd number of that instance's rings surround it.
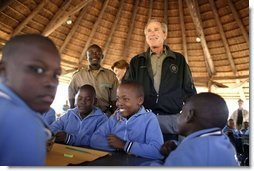
M 57 20 L 60 19 L 60 17 L 66 12 L 65 10 L 70 6 L 71 0 L 65 0 L 62 4 L 61 7 L 58 9 L 58 11 L 54 14 L 53 18 L 50 20 L 48 25 L 45 27 L 45 29 L 42 32 L 42 35 L 48 36 L 49 35 L 49 30 L 54 27 L 54 24 L 57 22 Z

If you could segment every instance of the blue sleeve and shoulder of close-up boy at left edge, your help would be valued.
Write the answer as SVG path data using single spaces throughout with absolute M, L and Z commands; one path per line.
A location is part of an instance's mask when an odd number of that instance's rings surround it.
M 46 134 L 43 125 L 35 116 L 11 106 L 2 117 L 0 130 L 0 165 L 38 166 L 44 165 L 46 157 Z M 2 113 L 1 113 L 2 114 Z

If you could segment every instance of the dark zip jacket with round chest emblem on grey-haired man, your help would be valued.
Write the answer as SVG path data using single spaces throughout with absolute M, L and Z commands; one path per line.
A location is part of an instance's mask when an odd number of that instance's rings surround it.
M 150 48 L 131 59 L 123 82 L 138 81 L 143 84 L 145 108 L 152 109 L 154 113 L 160 115 L 177 114 L 182 110 L 186 98 L 197 92 L 184 56 L 171 51 L 168 46 L 164 49 L 166 58 L 162 64 L 158 94 L 153 84 Z

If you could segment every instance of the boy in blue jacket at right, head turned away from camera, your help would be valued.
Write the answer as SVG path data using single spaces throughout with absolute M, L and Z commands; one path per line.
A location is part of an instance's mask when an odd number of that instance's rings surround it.
M 178 131 L 186 138 L 175 147 L 166 142 L 161 153 L 165 166 L 238 166 L 236 151 L 222 133 L 227 123 L 226 102 L 214 93 L 193 95 L 178 118 Z M 160 165 L 159 164 L 159 165 Z M 157 165 L 153 163 L 152 165 Z

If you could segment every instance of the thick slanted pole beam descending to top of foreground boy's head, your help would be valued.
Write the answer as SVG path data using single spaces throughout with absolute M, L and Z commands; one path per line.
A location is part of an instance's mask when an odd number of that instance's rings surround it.
M 52 27 L 50 27 L 47 31 L 45 31 L 45 33 L 43 35 L 45 35 L 45 36 L 50 35 L 53 31 L 55 31 L 58 27 L 60 27 L 64 22 L 66 22 L 66 20 L 70 16 L 74 15 L 75 13 L 80 11 L 82 8 L 89 5 L 91 2 L 95 2 L 95 1 L 94 0 L 81 1 L 72 10 L 66 12 L 63 16 L 61 16 L 61 18 L 59 18 L 59 20 L 57 20 L 57 22 L 55 22 L 55 24 Z

